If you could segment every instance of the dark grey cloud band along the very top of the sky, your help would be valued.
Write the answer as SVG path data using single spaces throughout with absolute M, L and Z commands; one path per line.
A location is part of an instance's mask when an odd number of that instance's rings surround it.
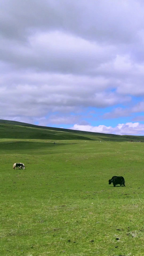
M 7 36 L 13 33 L 14 38 L 16 32 L 23 37 L 37 28 L 61 29 L 89 40 L 127 43 L 141 28 L 143 8 L 141 1 L 135 0 L 5 0 L 1 4 L 1 28 Z

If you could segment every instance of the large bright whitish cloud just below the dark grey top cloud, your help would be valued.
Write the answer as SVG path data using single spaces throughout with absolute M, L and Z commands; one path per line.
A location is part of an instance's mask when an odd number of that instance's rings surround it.
M 114 52 L 110 46 L 102 47 L 61 32 L 38 33 L 29 38 L 29 44 L 5 39 L 1 44 L 1 61 L 38 72 L 94 74 L 97 66 Z

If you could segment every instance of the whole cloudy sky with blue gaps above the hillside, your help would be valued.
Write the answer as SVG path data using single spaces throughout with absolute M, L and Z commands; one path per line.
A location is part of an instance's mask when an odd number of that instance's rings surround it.
M 144 0 L 1 0 L 0 119 L 144 135 Z

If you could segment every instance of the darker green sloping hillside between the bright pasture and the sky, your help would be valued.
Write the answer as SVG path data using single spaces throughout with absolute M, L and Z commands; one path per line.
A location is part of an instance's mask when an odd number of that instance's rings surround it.
M 8 120 L 0 120 L 0 138 L 144 142 L 144 136 L 91 133 Z

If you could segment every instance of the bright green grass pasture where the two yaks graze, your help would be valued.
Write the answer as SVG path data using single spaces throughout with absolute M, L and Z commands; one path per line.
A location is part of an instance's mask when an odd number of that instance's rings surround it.
M 0 186 L 0 255 L 144 255 L 144 143 L 0 139 Z

